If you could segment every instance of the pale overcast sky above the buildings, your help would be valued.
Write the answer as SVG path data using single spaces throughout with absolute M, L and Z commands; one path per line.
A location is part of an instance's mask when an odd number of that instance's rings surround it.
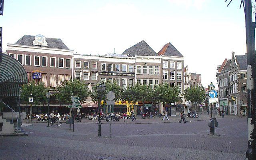
M 230 0 L 228 0 L 230 1 Z M 240 0 L 5 0 L 3 51 L 23 35 L 60 38 L 79 54 L 122 53 L 145 40 L 158 52 L 171 42 L 189 72 L 216 84 L 216 66 L 246 53 Z

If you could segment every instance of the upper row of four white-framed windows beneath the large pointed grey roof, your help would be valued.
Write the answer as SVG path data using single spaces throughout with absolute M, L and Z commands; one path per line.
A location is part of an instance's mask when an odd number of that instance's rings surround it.
M 136 66 L 136 74 L 159 75 L 159 66 Z

